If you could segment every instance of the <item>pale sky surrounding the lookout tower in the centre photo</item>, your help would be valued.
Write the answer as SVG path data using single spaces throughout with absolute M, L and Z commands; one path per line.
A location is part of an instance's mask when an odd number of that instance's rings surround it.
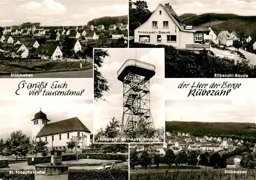
M 156 74 L 150 80 L 151 113 L 156 128 L 165 124 L 164 101 L 164 49 L 163 48 L 108 48 L 111 57 L 106 57 L 99 71 L 109 81 L 110 90 L 104 92 L 103 100 L 94 101 L 94 133 L 111 121 L 122 120 L 123 85 L 117 80 L 117 71 L 127 59 L 137 59 L 156 66 Z

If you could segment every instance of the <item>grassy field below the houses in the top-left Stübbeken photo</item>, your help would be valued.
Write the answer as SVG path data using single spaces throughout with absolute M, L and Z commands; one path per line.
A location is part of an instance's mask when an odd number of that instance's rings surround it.
M 92 69 L 92 63 L 82 62 L 66 62 L 65 61 L 16 61 L 16 62 L 0 62 L 0 75 L 11 73 L 43 73 L 57 71 L 74 71 Z

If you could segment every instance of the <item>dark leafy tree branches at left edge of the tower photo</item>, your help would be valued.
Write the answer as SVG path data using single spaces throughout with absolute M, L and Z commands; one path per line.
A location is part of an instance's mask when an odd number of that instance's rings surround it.
M 109 81 L 98 70 L 102 66 L 103 59 L 109 57 L 108 50 L 94 49 L 94 99 L 103 99 L 103 93 L 109 91 Z M 103 99 L 105 100 L 105 99 Z

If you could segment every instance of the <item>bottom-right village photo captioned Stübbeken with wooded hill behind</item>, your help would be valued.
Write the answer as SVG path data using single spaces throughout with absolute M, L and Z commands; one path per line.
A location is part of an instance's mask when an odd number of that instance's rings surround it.
M 130 150 L 130 179 L 148 172 L 147 179 L 256 177 L 254 100 L 166 100 L 165 106 L 165 143 L 130 145 L 136 149 Z

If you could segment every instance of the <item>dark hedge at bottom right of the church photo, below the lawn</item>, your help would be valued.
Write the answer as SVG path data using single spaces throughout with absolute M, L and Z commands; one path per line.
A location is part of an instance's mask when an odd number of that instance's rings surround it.
M 69 171 L 69 180 L 127 180 L 128 170 L 110 169 L 110 170 L 71 170 Z

